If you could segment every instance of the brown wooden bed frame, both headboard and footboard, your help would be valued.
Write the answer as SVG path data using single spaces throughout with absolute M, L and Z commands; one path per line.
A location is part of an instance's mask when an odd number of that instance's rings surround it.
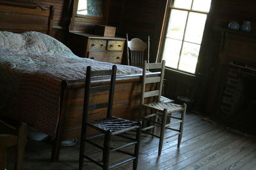
M 38 31 L 52 34 L 54 8 L 43 8 L 35 3 L 21 1 L 0 1 L 0 31 L 25 32 Z M 157 73 L 149 73 L 154 76 Z M 140 107 L 141 74 L 116 76 L 113 115 L 136 119 Z M 104 85 L 106 80 L 97 78 L 92 86 Z M 152 89 L 154 87 L 147 87 Z M 61 82 L 60 116 L 56 138 L 52 146 L 51 160 L 57 161 L 61 141 L 81 136 L 83 112 L 84 80 L 63 80 Z M 106 99 L 108 94 L 92 94 L 91 103 Z M 104 117 L 104 110 L 90 113 L 90 118 Z

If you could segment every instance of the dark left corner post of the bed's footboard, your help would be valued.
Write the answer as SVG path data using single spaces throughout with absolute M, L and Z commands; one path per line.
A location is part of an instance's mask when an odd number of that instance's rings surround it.
M 60 96 L 60 117 L 56 131 L 56 137 L 52 143 L 52 154 L 51 160 L 52 162 L 56 162 L 59 160 L 60 155 L 60 146 L 61 146 L 61 137 L 63 130 L 63 119 L 65 117 L 65 111 L 67 108 L 67 81 L 61 81 L 61 96 Z

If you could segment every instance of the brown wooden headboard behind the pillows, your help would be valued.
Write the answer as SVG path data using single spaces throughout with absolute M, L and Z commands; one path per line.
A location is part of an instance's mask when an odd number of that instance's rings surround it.
M 54 8 L 26 1 L 0 0 L 0 31 L 38 31 L 52 35 Z

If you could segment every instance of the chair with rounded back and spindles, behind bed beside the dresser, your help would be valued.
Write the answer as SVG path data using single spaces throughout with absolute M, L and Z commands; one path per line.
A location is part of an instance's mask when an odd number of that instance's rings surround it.
M 128 66 L 143 67 L 143 61 L 149 62 L 149 46 L 150 37 L 148 36 L 148 43 L 143 42 L 140 38 L 132 38 L 128 40 L 128 34 L 126 34 L 127 40 L 127 64 Z M 147 54 L 145 53 L 146 50 Z

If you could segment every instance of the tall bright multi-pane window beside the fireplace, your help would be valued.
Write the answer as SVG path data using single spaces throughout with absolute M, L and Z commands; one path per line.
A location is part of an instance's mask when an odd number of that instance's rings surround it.
M 166 66 L 195 73 L 211 0 L 173 0 L 164 37 Z

